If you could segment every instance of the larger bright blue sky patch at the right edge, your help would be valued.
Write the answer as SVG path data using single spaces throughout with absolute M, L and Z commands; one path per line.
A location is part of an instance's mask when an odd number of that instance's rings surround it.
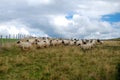
M 109 22 L 119 22 L 120 21 L 120 13 L 104 15 L 102 17 L 102 20 L 109 21 Z

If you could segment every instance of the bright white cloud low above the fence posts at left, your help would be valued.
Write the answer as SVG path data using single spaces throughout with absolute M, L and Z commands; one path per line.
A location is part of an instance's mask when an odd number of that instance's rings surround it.
M 5 31 L 5 32 L 4 32 Z M 16 34 L 24 34 L 29 35 L 29 31 L 27 30 L 27 27 L 21 23 L 18 23 L 16 21 L 10 21 L 0 24 L 0 34 L 1 35 L 16 35 Z

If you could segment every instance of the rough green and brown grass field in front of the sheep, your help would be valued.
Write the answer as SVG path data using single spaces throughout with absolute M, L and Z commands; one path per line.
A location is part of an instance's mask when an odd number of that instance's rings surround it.
M 0 48 L 0 80 L 119 80 L 120 41 L 85 52 L 76 46 L 21 51 L 14 44 Z

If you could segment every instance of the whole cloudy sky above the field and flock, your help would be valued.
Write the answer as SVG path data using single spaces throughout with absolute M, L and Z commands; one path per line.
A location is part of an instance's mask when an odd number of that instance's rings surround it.
M 120 37 L 119 0 L 0 0 L 0 35 Z

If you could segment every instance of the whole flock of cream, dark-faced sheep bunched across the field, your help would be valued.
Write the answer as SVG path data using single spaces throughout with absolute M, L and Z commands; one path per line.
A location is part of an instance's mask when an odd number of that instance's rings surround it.
M 22 50 L 28 50 L 32 47 L 36 49 L 46 48 L 50 46 L 79 46 L 81 49 L 92 49 L 97 44 L 102 44 L 103 41 L 99 39 L 53 39 L 53 38 L 26 38 L 17 41 L 18 47 Z

